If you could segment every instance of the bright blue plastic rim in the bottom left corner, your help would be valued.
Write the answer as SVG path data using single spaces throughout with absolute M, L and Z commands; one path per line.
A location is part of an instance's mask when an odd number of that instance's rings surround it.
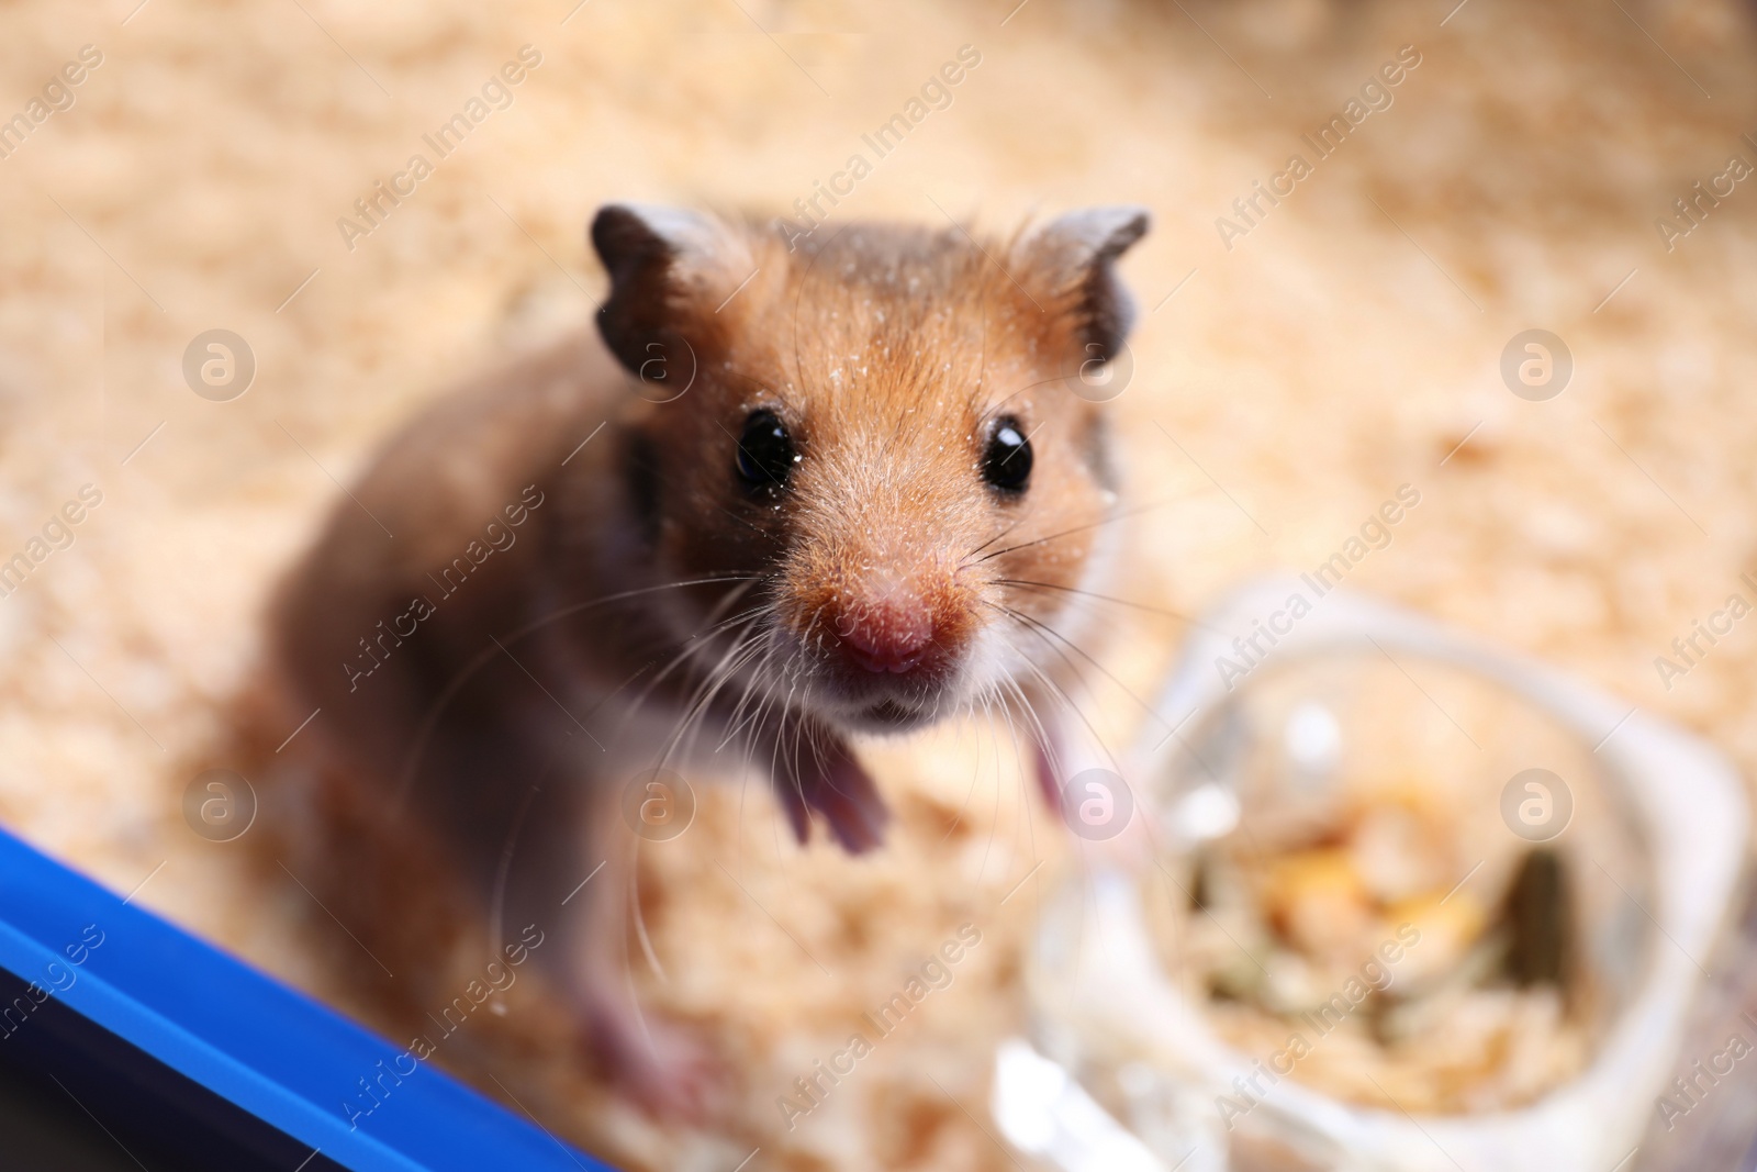
M 5 831 L 0 968 L 33 982 L 0 1005 L 0 1047 L 30 1040 L 49 1007 L 72 1010 L 309 1147 L 311 1167 L 613 1172 Z

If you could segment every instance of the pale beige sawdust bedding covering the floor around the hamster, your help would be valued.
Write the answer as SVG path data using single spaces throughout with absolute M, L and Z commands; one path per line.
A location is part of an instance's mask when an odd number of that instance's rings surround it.
M 1757 536 L 1757 197 L 1739 183 L 1688 235 L 1655 228 L 1729 156 L 1757 162 L 1741 5 L 1472 0 L 1444 25 L 1450 4 L 1320 0 L 1038 0 L 1010 18 L 132 7 L 14 5 L 0 46 L 21 109 L 81 46 L 104 58 L 0 160 L 0 553 L 84 485 L 102 494 L 0 601 L 0 821 L 118 891 L 151 873 L 148 907 L 350 1012 L 374 1019 L 334 924 L 179 812 L 199 770 L 244 768 L 228 713 L 276 575 L 337 481 L 455 371 L 587 318 L 597 204 L 789 209 L 966 44 L 980 65 L 951 105 L 833 214 L 935 221 L 938 204 L 1007 228 L 1153 207 L 1126 265 L 1142 315 L 1117 401 L 1132 494 L 1153 508 L 1119 596 L 1189 613 L 1244 575 L 1307 569 L 1411 483 L 1421 508 L 1349 585 L 1757 764 L 1757 636 L 1734 627 L 1687 673 L 1655 669 L 1741 589 Z M 510 102 L 371 234 L 343 232 L 522 46 L 541 63 Z M 1216 220 L 1400 46 L 1421 63 L 1395 100 L 1225 239 Z M 1534 325 L 1576 362 L 1548 402 L 1497 371 Z M 257 357 L 251 390 L 223 404 L 181 374 L 216 327 Z M 1107 666 L 1149 691 L 1177 624 L 1107 619 Z M 1095 706 L 1109 736 L 1133 736 L 1126 698 Z M 726 1060 L 720 1121 L 659 1128 L 618 1105 L 553 1042 L 531 984 L 437 1061 L 640 1167 L 733 1167 L 754 1147 L 787 1168 L 1010 1167 L 977 1123 L 993 1045 L 1024 1024 L 1035 908 L 1077 866 L 991 731 L 870 757 L 900 815 L 875 857 L 794 849 L 761 796 L 726 787 L 643 859 L 657 965 L 634 977 Z M 951 982 L 789 1130 L 777 1096 L 966 922 L 980 944 Z

